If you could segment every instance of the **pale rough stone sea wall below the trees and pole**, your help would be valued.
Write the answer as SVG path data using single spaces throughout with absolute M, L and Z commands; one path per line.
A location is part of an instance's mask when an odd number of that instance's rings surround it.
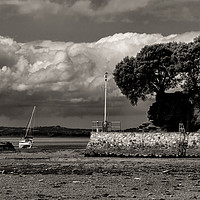
M 200 133 L 91 132 L 85 155 L 200 157 Z

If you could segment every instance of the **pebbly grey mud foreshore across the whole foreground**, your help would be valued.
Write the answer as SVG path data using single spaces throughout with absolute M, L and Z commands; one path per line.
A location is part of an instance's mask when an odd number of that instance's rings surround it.
M 0 153 L 0 197 L 200 199 L 199 158 L 84 157 L 84 149 Z

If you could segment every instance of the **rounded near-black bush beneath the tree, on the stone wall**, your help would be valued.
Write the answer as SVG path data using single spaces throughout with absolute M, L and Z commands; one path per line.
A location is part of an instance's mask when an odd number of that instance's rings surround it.
M 180 122 L 185 125 L 186 131 L 196 130 L 194 105 L 188 94 L 181 91 L 165 93 L 162 99 L 150 106 L 148 118 L 167 131 L 178 131 Z

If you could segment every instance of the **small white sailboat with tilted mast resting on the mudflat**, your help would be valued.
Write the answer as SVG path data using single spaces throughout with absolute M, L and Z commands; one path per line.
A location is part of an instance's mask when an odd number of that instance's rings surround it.
M 26 126 L 26 133 L 21 138 L 21 140 L 19 141 L 19 148 L 30 149 L 33 146 L 33 136 L 31 134 L 31 130 L 32 130 L 31 125 L 32 125 L 32 120 L 33 120 L 33 116 L 34 116 L 34 113 L 35 113 L 35 109 L 36 109 L 36 106 L 33 107 L 31 117 L 30 117 L 28 124 Z

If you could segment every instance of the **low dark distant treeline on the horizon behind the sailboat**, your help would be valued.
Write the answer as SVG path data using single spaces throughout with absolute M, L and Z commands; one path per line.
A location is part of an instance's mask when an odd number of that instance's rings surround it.
M 79 128 L 66 128 L 61 126 L 41 126 L 32 129 L 32 136 L 42 137 L 67 137 L 77 136 L 82 137 L 90 136 L 91 129 L 79 129 Z M 25 127 L 0 127 L 0 136 L 23 136 L 25 135 Z

